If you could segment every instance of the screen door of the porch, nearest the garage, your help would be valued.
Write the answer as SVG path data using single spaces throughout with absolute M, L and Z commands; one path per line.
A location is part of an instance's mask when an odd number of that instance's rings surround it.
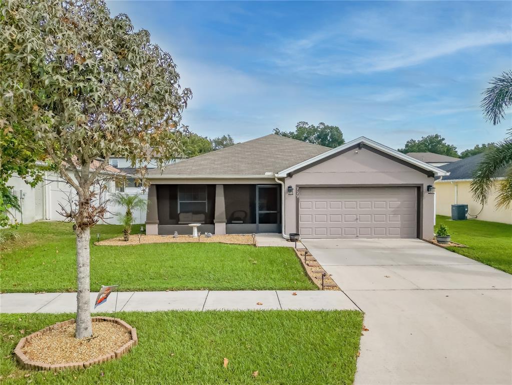
M 280 232 L 280 200 L 278 185 L 256 186 L 256 223 L 259 233 Z

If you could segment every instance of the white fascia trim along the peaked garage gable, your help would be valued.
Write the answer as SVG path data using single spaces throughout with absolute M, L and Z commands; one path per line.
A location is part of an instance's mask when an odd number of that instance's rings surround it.
M 376 141 L 368 139 L 367 137 L 360 136 L 357 139 L 351 140 L 351 141 L 349 141 L 348 143 L 345 143 L 342 146 L 333 148 L 332 150 L 329 150 L 329 151 L 326 151 L 326 152 L 324 152 L 322 154 L 313 156 L 312 158 L 304 160 L 301 163 L 298 163 L 298 164 L 296 164 L 294 166 L 291 166 L 291 167 L 289 167 L 289 168 L 287 168 L 287 169 L 285 169 L 283 171 L 280 171 L 280 172 L 278 172 L 277 176 L 278 177 L 286 177 L 288 175 L 288 173 L 290 173 L 290 172 L 293 172 L 293 171 L 295 171 L 297 169 L 301 169 L 303 167 L 306 167 L 306 166 L 308 166 L 308 165 L 310 165 L 310 164 L 312 164 L 314 162 L 317 162 L 319 160 L 323 160 L 323 159 L 325 159 L 327 157 L 332 157 L 333 155 L 342 153 L 344 150 L 346 151 L 347 149 L 349 149 L 352 146 L 359 145 L 359 143 L 363 143 L 363 144 L 365 144 L 367 146 L 373 147 L 373 148 L 375 148 L 375 149 L 377 149 L 377 150 L 379 150 L 379 151 L 381 151 L 383 153 L 392 155 L 392 156 L 394 156 L 394 157 L 396 157 L 398 159 L 404 160 L 407 163 L 415 165 L 415 166 L 417 166 L 419 168 L 422 168 L 424 170 L 432 171 L 437 176 L 450 175 L 449 172 L 446 172 L 446 171 L 444 171 L 444 170 L 442 170 L 442 169 L 440 169 L 438 167 L 429 165 L 428 163 L 425 163 L 425 162 L 423 162 L 421 160 L 415 159 L 415 158 L 413 158 L 411 156 L 408 156 L 406 154 L 402 154 L 401 152 L 393 150 L 390 147 L 381 145 L 380 143 L 377 143 Z

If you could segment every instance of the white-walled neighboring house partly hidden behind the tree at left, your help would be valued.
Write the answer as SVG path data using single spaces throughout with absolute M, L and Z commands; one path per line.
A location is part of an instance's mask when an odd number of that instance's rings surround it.
M 97 161 L 94 161 L 91 165 L 91 170 L 95 170 L 98 165 Z M 73 172 L 68 170 L 69 175 L 75 179 Z M 108 177 L 113 175 L 124 175 L 118 169 L 107 166 L 104 171 L 100 173 L 100 177 Z M 46 171 L 44 174 L 44 180 L 37 184 L 34 188 L 27 185 L 25 181 L 17 175 L 13 175 L 8 183 L 8 186 L 12 187 L 14 194 L 20 201 L 22 211 L 12 212 L 13 220 L 23 223 L 30 224 L 37 220 L 63 220 L 65 219 L 59 214 L 60 206 L 67 206 L 69 198 L 74 199 L 76 196 L 75 190 L 67 183 L 65 179 L 60 177 L 56 172 Z M 99 189 L 96 187 L 96 190 Z M 116 187 L 114 180 L 106 181 L 106 189 L 101 193 L 101 199 L 109 199 L 111 194 L 116 193 Z M 114 207 L 110 206 L 110 212 L 116 212 Z M 145 213 L 143 213 L 143 220 L 145 220 Z M 141 215 L 139 215 L 141 216 Z M 116 216 L 111 219 L 107 219 L 107 222 L 111 224 L 118 223 L 119 220 Z

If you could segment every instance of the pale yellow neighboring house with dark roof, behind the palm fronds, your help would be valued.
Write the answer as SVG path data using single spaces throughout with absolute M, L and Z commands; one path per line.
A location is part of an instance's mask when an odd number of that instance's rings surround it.
M 484 154 L 473 155 L 440 167 L 450 172 L 450 175 L 436 180 L 436 214 L 451 216 L 453 204 L 466 204 L 468 205 L 468 217 L 478 214 L 476 219 L 512 224 L 512 208 L 496 208 L 495 189 L 489 194 L 487 204 L 483 207 L 473 198 L 470 187 L 471 180 L 483 156 Z M 505 176 L 505 169 L 499 171 L 495 176 L 496 183 L 500 183 L 500 179 Z

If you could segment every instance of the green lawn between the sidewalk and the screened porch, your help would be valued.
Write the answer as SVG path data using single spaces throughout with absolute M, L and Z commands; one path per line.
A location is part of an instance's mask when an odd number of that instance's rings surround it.
M 134 226 L 135 229 L 137 226 Z M 291 248 L 225 244 L 94 246 L 121 234 L 99 225 L 91 232 L 91 290 L 313 290 Z M 70 224 L 36 222 L 2 251 L 3 292 L 76 291 L 75 234 Z

